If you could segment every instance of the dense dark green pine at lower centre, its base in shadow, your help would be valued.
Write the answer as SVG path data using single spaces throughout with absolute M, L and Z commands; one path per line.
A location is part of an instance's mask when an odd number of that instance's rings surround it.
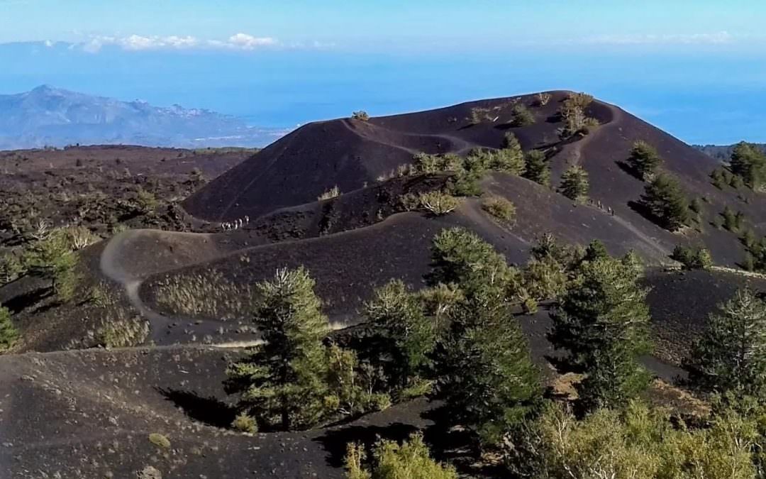
M 447 342 L 441 390 L 454 422 L 472 428 L 485 445 L 522 425 L 542 397 L 539 372 L 519 324 L 506 307 L 481 307 L 483 316 Z

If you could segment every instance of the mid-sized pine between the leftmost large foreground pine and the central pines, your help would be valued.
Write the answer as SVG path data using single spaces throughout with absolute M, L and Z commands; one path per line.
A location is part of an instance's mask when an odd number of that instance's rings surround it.
M 388 370 L 392 385 L 404 387 L 427 365 L 428 354 L 436 345 L 434 325 L 425 316 L 417 294 L 401 280 L 391 280 L 375 291 L 365 305 L 368 320 L 378 331 L 378 346 L 370 360 Z

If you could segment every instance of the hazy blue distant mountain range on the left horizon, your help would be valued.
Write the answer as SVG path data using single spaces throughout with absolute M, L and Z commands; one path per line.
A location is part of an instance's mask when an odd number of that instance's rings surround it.
M 43 85 L 0 95 L 0 149 L 73 144 L 143 146 L 265 146 L 286 130 L 178 105 L 153 107 Z

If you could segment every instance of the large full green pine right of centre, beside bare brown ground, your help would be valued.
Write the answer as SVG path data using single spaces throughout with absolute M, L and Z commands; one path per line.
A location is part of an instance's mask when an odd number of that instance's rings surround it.
M 549 339 L 566 349 L 573 370 L 584 372 L 578 403 L 584 411 L 617 407 L 647 385 L 638 363 L 649 349 L 647 291 L 631 261 L 599 258 L 581 265 L 552 315 Z

